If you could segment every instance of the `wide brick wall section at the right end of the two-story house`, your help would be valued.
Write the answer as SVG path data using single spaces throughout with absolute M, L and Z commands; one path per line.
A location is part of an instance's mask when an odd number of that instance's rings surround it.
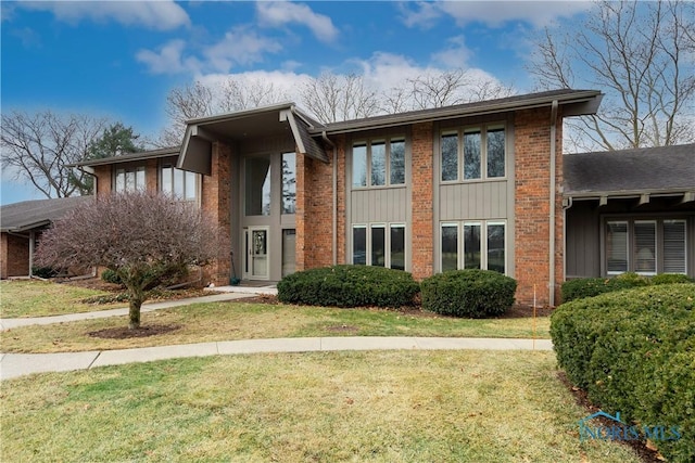
M 551 108 L 517 112 L 515 115 L 515 266 L 517 301 L 549 303 L 549 181 Z M 558 114 L 556 133 L 555 204 L 555 298 L 563 282 L 563 121 Z

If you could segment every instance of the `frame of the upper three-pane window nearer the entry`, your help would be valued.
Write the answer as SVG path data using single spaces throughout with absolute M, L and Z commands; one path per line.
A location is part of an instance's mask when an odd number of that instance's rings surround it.
M 392 150 L 391 145 L 394 143 L 403 143 L 403 182 L 402 183 L 393 183 L 393 158 L 392 158 Z M 383 145 L 384 150 L 384 159 L 383 159 L 383 183 L 376 184 L 372 182 L 372 173 L 374 173 L 374 157 L 372 157 L 372 146 L 374 145 Z M 356 147 L 365 147 L 365 184 L 355 182 L 355 149 Z M 362 154 L 361 154 L 362 157 Z M 382 137 L 370 137 L 370 138 L 361 138 L 352 141 L 351 146 L 351 184 L 353 190 L 366 190 L 366 189 L 384 189 L 384 188 L 403 188 L 407 184 L 407 137 L 405 134 L 387 134 Z

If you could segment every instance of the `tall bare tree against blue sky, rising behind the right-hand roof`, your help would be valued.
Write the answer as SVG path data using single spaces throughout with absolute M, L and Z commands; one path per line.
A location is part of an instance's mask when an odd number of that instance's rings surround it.
M 568 123 L 579 150 L 695 140 L 695 3 L 602 1 L 570 30 L 546 29 L 529 70 L 539 88 L 598 88 L 596 116 Z M 571 143 L 571 140 L 570 140 Z

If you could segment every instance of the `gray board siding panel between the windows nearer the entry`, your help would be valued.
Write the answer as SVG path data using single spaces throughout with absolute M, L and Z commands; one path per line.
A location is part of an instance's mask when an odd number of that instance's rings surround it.
M 353 190 L 351 223 L 401 222 L 407 220 L 407 188 Z

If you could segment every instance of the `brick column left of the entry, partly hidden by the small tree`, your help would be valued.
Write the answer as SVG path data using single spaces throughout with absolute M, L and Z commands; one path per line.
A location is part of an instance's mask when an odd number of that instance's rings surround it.
M 228 145 L 213 143 L 212 171 L 202 177 L 203 215 L 217 224 L 219 232 L 217 258 L 203 270 L 203 283 L 218 286 L 229 284 L 231 275 L 231 154 Z

